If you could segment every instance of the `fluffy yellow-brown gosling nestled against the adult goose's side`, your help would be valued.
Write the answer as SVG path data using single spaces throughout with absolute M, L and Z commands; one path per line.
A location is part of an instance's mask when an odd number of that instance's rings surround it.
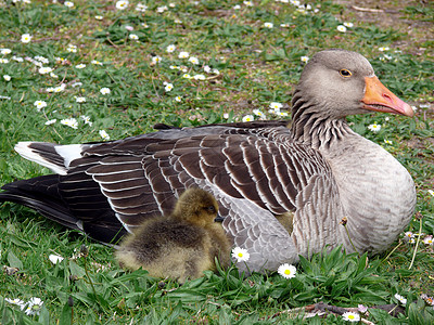
M 181 194 L 170 216 L 146 219 L 123 239 L 115 256 L 128 269 L 143 268 L 151 276 L 180 283 L 230 263 L 231 244 L 220 223 L 214 222 L 218 204 L 208 192 L 192 187 Z

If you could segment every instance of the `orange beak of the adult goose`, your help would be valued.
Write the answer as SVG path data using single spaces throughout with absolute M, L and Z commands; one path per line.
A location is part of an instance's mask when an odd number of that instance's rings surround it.
M 411 106 L 399 100 L 392 91 L 385 88 L 375 76 L 365 77 L 365 96 L 361 100 L 365 109 L 399 114 L 409 117 L 414 115 Z

